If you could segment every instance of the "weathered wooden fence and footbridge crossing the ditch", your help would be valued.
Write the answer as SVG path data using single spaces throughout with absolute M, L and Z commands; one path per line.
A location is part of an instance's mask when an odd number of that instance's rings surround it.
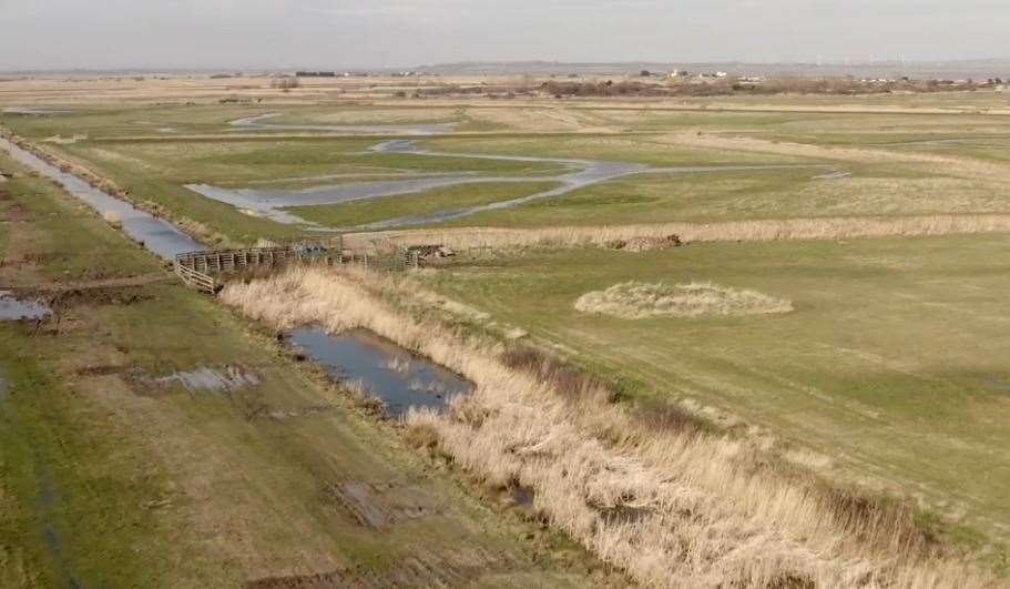
M 381 270 L 406 270 L 418 257 L 406 251 L 381 253 L 375 248 L 345 248 L 343 240 L 300 242 L 271 247 L 187 252 L 175 256 L 175 274 L 187 285 L 216 294 L 227 274 L 272 270 L 290 264 L 327 266 L 358 265 Z

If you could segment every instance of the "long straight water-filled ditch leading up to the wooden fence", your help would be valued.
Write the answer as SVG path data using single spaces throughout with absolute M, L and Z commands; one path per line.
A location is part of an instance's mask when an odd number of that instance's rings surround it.
M 88 203 L 100 214 L 115 213 L 123 224 L 123 233 L 142 242 L 144 247 L 166 260 L 174 260 L 176 254 L 206 250 L 164 219 L 141 211 L 132 204 L 110 196 L 80 177 L 63 172 L 51 163 L 22 150 L 10 141 L 0 138 L 0 148 L 9 151 L 20 163 L 59 183 L 68 192 Z

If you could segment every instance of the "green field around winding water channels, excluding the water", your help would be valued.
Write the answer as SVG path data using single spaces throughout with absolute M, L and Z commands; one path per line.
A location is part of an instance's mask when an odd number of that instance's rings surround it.
M 989 101 L 989 94 L 965 97 L 870 97 L 865 105 L 920 105 L 962 110 L 963 100 Z M 749 105 L 752 101 L 744 101 Z M 730 101 L 714 103 L 728 105 Z M 724 104 L 725 103 L 725 104 Z M 846 103 L 836 98 L 771 97 L 772 106 L 796 108 Z M 593 108 L 593 104 L 596 108 Z M 849 102 L 851 104 L 851 102 Z M 860 102 L 860 104 L 863 104 Z M 620 105 L 620 104 L 619 104 Z M 858 106 L 859 104 L 855 104 Z M 4 115 L 18 133 L 42 141 L 86 135 L 82 141 L 49 148 L 96 167 L 130 191 L 174 214 L 190 217 L 235 242 L 261 236 L 285 238 L 297 226 L 252 217 L 231 205 L 184 189 L 206 183 L 232 189 L 313 189 L 325 184 L 411 177 L 432 173 L 550 176 L 564 170 L 553 162 L 501 159 L 432 158 L 416 153 L 371 153 L 380 138 L 320 138 L 318 132 L 239 131 L 229 121 L 277 112 L 276 124 L 419 124 L 456 122 L 446 138 L 416 138 L 421 149 L 483 156 L 593 159 L 642 163 L 653 167 L 732 165 L 810 165 L 812 167 L 651 173 L 624 176 L 581 187 L 562 196 L 516 209 L 479 213 L 441 223 L 445 226 L 550 226 L 664 221 L 725 221 L 827 215 L 901 215 L 1000 213 L 1008 206 L 1010 174 L 986 177 L 959 165 L 937 165 L 924 158 L 963 160 L 976 164 L 1007 161 L 1010 118 L 972 114 L 859 114 L 661 111 L 616 108 L 605 102 L 543 103 L 534 109 L 498 104 L 447 106 L 405 102 L 398 105 L 195 105 L 109 109 L 68 108 L 45 116 Z M 469 126 L 467 126 L 469 125 Z M 491 126 L 481 126 L 491 125 Z M 482 135 L 475 130 L 494 133 Z M 551 131 L 539 135 L 530 131 Z M 591 134 L 583 131 L 590 130 Z M 275 136 L 256 138 L 254 132 Z M 124 138 L 146 138 L 123 141 Z M 187 138 L 187 139 L 183 139 Z M 283 138 L 283 139 L 282 139 Z M 749 145 L 735 138 L 753 140 Z M 102 140 L 104 139 L 104 140 Z M 116 140 L 119 139 L 119 140 Z M 96 141 L 98 140 L 98 141 Z M 802 144 L 804 148 L 795 148 Z M 745 148 L 745 149 L 744 149 Z M 832 148 L 859 150 L 833 153 Z M 806 151 L 804 151 L 806 150 Z M 863 151 L 866 150 L 866 151 Z M 884 151 L 887 159 L 874 153 Z M 861 154 L 861 155 L 859 155 Z M 879 160 L 879 161 L 877 161 Z M 819 167 L 818 167 L 819 166 Z M 841 172 L 844 177 L 822 179 Z M 377 222 L 405 211 L 433 213 L 467 204 L 507 200 L 518 186 L 475 192 L 453 187 L 374 202 L 302 207 L 307 217 L 329 226 Z

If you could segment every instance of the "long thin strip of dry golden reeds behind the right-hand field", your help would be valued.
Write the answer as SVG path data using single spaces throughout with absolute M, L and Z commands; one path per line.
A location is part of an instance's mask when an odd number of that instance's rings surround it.
M 543 229 L 472 227 L 459 230 L 405 230 L 351 234 L 348 243 L 442 244 L 453 248 L 549 246 L 605 246 L 616 241 L 666 237 L 685 242 L 841 240 L 889 235 L 950 235 L 1010 232 L 1010 214 L 814 217 L 722 223 L 651 223 L 614 226 L 558 226 Z

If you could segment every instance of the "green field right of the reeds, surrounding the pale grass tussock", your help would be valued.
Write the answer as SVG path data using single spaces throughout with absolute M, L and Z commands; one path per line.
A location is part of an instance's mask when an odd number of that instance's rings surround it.
M 806 459 L 816 469 L 853 468 L 1008 539 L 1008 246 L 1000 235 L 529 252 L 426 282 L 632 379 L 636 399 L 743 417 L 816 450 Z M 583 294 L 628 281 L 711 281 L 795 311 L 647 319 L 577 311 Z

